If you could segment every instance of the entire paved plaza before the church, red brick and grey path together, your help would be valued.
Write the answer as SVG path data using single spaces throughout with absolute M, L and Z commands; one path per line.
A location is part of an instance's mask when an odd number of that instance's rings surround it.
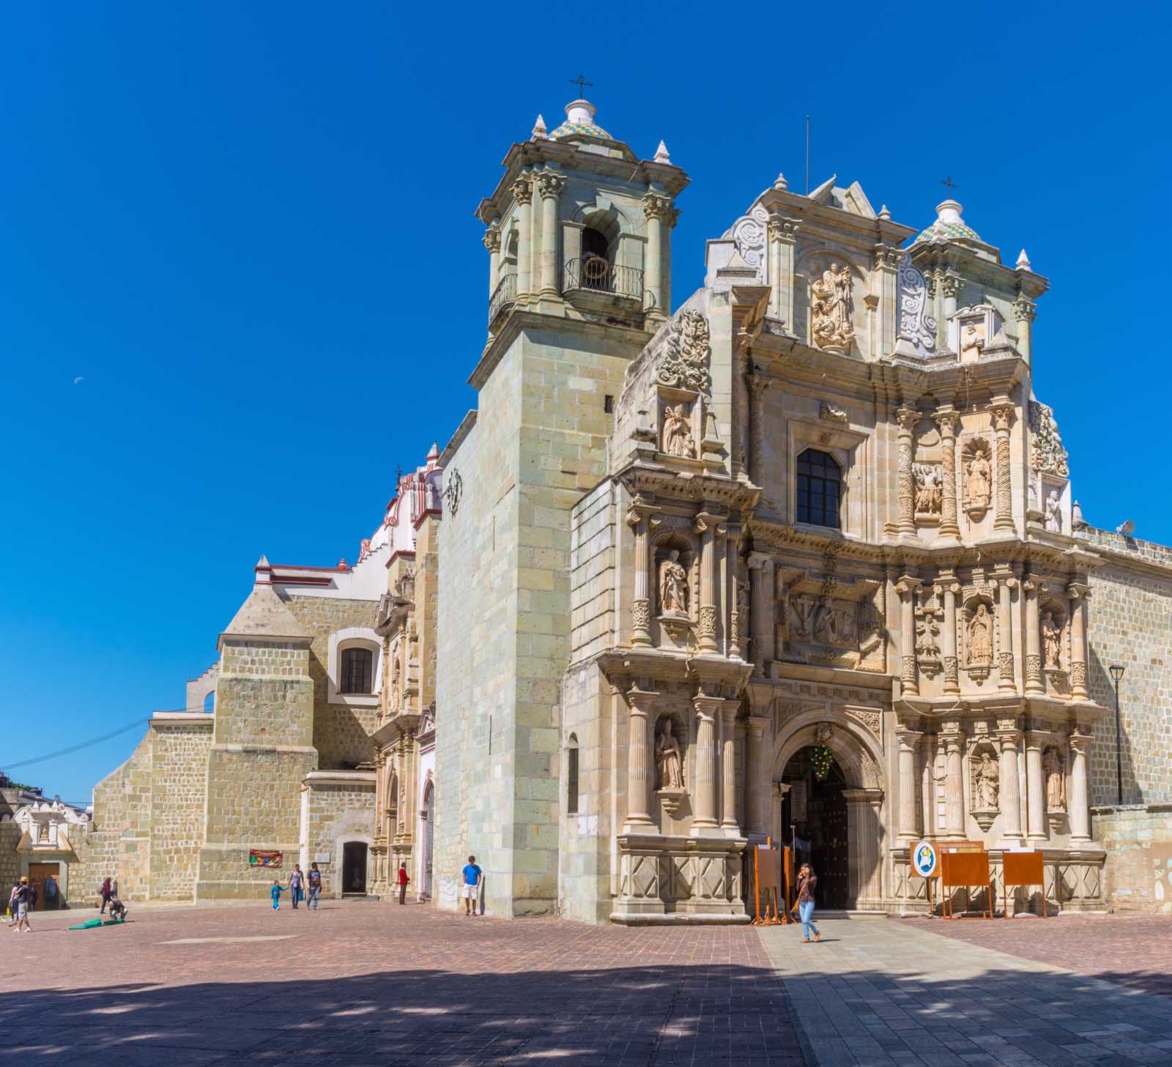
M 1172 1063 L 1161 918 L 826 918 L 805 946 L 335 903 L 66 930 L 90 916 L 4 932 L 0 1065 Z

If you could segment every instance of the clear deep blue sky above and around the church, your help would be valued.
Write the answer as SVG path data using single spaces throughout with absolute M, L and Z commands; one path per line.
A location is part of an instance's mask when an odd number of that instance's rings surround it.
M 180 707 L 261 552 L 354 559 L 396 463 L 475 405 L 473 210 L 579 72 L 602 125 L 691 175 L 676 304 L 706 238 L 778 170 L 799 188 L 808 113 L 811 182 L 900 222 L 952 175 L 1051 280 L 1036 389 L 1086 518 L 1172 542 L 1165 8 L 486 11 L 0 12 L 0 767 Z M 139 733 L 13 774 L 84 800 Z

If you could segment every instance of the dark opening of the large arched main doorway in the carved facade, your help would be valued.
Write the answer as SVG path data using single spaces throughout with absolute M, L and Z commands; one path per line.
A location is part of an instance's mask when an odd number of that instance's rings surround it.
M 826 766 L 829 757 L 830 766 Z M 820 908 L 851 904 L 850 850 L 846 840 L 846 779 L 829 749 L 808 746 L 793 754 L 782 781 L 790 787 L 782 801 L 782 837 L 797 841 L 793 870 L 802 863 L 818 876 L 816 899 Z

